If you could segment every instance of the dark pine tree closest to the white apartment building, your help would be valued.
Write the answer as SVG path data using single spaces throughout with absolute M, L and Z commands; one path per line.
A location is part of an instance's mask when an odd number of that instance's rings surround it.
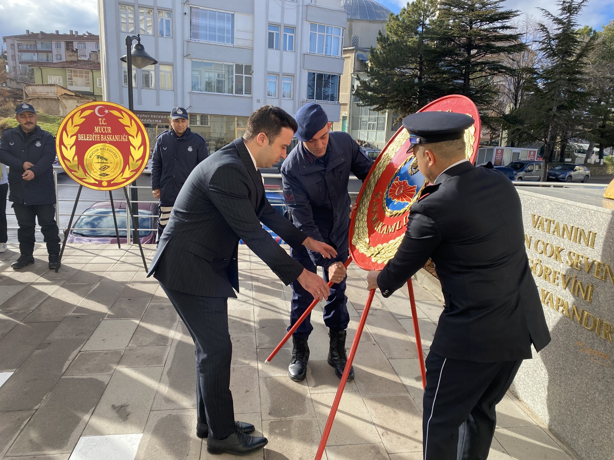
M 437 0 L 414 0 L 391 15 L 386 35 L 371 48 L 367 78 L 354 91 L 362 104 L 405 115 L 449 94 L 427 40 L 436 13 Z

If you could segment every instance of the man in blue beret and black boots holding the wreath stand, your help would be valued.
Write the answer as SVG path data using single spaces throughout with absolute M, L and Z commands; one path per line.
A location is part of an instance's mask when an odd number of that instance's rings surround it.
M 364 180 L 373 160 L 360 151 L 349 134 L 328 131 L 328 117 L 321 105 L 303 105 L 298 109 L 296 120 L 298 131 L 295 136 L 301 142 L 281 167 L 284 199 L 297 228 L 313 239 L 332 245 L 337 256 L 325 259 L 306 248 L 292 248 L 290 255 L 311 272 L 316 273 L 316 267 L 322 267 L 324 279 L 333 282 L 324 306 L 324 323 L 330 337 L 328 364 L 341 378 L 347 360 L 345 342 L 349 323 L 346 270 L 343 266 L 349 251 L 349 175 L 353 173 Z M 290 327 L 313 301 L 313 296 L 299 283 L 292 283 L 292 289 Z M 311 331 L 313 327 L 308 316 L 292 336 L 292 361 L 288 375 L 294 381 L 305 379 L 309 360 L 307 339 Z M 349 374 L 349 379 L 352 378 L 353 369 Z

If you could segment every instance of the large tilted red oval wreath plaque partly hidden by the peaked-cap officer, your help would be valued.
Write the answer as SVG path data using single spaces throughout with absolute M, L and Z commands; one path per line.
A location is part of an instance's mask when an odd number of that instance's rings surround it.
M 437 99 L 418 112 L 445 110 L 467 113 L 475 124 L 465 130 L 467 159 L 475 163 L 480 144 L 480 115 L 475 104 L 454 94 Z M 405 236 L 411 205 L 428 181 L 418 170 L 410 134 L 401 127 L 371 167 L 352 215 L 349 247 L 354 262 L 364 270 L 381 270 L 397 252 Z

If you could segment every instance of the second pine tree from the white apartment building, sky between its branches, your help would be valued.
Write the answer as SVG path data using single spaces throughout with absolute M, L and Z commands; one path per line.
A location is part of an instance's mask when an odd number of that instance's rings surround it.
M 429 37 L 448 81 L 448 92 L 464 94 L 480 109 L 486 123 L 495 121 L 491 109 L 502 75 L 515 71 L 507 57 L 526 45 L 510 22 L 517 10 L 504 10 L 503 0 L 441 0 L 438 20 Z

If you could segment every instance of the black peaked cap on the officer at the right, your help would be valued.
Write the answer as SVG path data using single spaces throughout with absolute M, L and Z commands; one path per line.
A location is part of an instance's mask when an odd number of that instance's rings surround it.
M 473 117 L 455 112 L 418 112 L 403 118 L 411 145 L 459 139 L 473 125 Z

